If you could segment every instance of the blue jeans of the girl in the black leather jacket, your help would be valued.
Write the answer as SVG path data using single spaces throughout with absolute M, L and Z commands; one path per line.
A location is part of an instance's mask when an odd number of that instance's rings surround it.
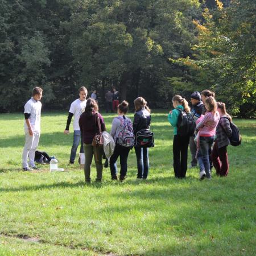
M 134 147 L 136 158 L 137 158 L 137 168 L 138 174 L 137 178 L 147 179 L 148 168 L 149 168 L 149 159 L 148 159 L 148 147 Z

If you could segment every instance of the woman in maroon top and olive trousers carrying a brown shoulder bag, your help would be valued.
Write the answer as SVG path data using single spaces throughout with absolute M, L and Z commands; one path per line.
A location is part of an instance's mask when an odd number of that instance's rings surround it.
M 79 118 L 79 126 L 82 133 L 82 139 L 84 142 L 84 154 L 85 154 L 85 164 L 84 164 L 84 175 L 85 182 L 90 183 L 90 165 L 92 163 L 92 158 L 94 156 L 94 161 L 96 163 L 97 178 L 96 181 L 102 180 L 102 155 L 103 147 L 96 147 L 92 145 L 93 138 L 96 134 L 100 133 L 98 127 L 98 120 L 100 119 L 101 131 L 105 131 L 105 123 L 102 115 L 98 113 L 98 104 L 92 98 L 88 98 L 86 102 L 86 107 L 84 113 L 81 114 Z

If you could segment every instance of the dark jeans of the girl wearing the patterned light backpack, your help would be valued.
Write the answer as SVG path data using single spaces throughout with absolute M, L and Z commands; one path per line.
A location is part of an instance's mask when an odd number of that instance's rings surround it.
M 120 177 L 125 177 L 127 174 L 127 158 L 129 155 L 130 148 L 123 147 L 119 144 L 115 144 L 114 153 L 110 158 L 110 172 L 112 177 L 117 176 L 117 159 L 120 156 Z

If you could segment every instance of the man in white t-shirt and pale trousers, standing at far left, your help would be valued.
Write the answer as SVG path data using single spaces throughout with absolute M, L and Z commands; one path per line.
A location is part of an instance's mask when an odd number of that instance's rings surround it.
M 40 87 L 35 87 L 32 91 L 32 97 L 24 106 L 24 131 L 26 142 L 22 153 L 22 168 L 23 171 L 30 171 L 31 168 L 38 170 L 35 166 L 35 151 L 40 138 L 40 122 L 43 90 Z M 27 163 L 28 158 L 28 163 Z M 30 168 L 30 167 L 31 168 Z

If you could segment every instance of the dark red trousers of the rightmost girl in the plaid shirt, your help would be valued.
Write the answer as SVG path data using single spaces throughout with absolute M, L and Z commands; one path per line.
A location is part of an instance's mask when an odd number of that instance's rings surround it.
M 212 162 L 216 169 L 217 175 L 227 176 L 229 173 L 229 160 L 228 152 L 225 147 L 218 148 L 217 141 L 213 145 L 212 149 Z

